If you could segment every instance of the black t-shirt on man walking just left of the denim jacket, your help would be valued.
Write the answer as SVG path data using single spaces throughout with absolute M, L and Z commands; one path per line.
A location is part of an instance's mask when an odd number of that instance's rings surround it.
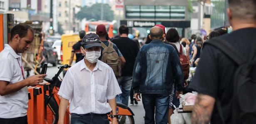
M 128 37 L 114 38 L 112 42 L 117 45 L 126 61 L 122 68 L 122 76 L 132 76 L 134 63 L 139 52 L 137 43 Z

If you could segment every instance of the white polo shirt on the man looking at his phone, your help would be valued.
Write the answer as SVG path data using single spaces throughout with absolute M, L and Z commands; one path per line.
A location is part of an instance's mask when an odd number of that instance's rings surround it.
M 0 52 L 0 80 L 10 83 L 17 83 L 23 80 L 18 61 L 22 65 L 21 54 L 16 54 L 10 45 L 5 44 L 4 50 Z M 27 86 L 25 86 L 15 93 L 0 96 L 0 118 L 27 115 L 27 93 Z

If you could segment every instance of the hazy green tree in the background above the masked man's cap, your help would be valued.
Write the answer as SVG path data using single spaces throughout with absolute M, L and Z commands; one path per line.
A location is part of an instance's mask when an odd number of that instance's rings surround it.
M 89 19 L 101 19 L 101 7 L 102 3 L 96 3 L 91 7 L 82 7 L 81 10 L 76 14 L 76 18 L 82 20 L 86 18 Z M 103 4 L 103 20 L 112 21 L 114 19 L 114 12 L 108 4 Z

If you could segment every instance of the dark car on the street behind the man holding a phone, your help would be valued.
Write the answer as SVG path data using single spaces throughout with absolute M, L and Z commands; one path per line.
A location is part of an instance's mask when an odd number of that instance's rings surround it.
M 57 52 L 46 41 L 44 42 L 44 47 L 42 49 L 42 52 L 43 52 L 43 55 L 45 56 L 44 62 L 51 63 L 52 66 L 57 66 L 58 64 Z

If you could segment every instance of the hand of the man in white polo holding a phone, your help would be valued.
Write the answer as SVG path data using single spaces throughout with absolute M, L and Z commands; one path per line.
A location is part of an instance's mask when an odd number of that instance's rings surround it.
M 25 80 L 28 82 L 28 86 L 45 85 L 46 83 L 42 83 L 45 76 L 47 74 L 33 75 Z

